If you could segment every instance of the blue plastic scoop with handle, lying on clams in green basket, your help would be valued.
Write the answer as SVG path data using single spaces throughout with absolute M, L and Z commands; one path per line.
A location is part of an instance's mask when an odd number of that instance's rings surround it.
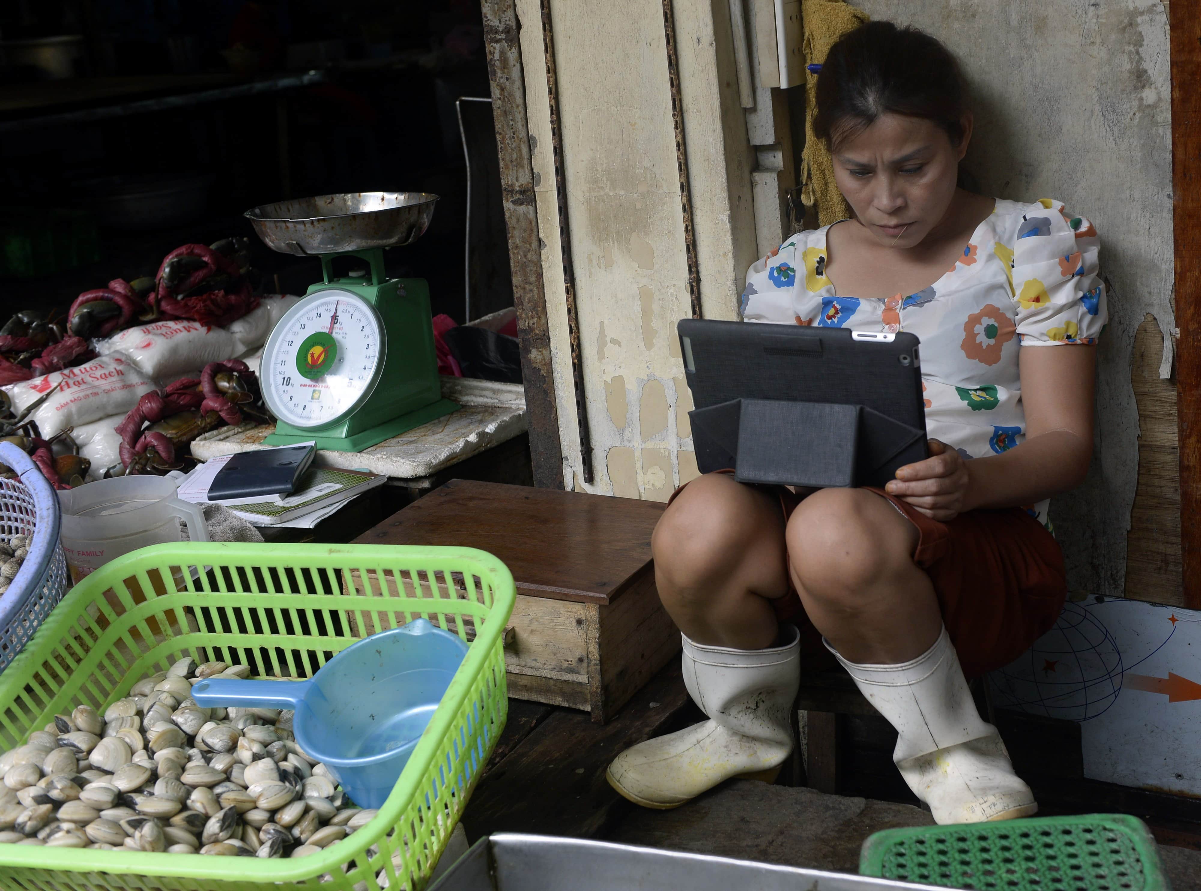
M 467 645 L 424 618 L 352 644 L 309 681 L 207 678 L 204 707 L 294 708 L 297 743 L 323 761 L 359 807 L 378 808 L 396 784 Z

